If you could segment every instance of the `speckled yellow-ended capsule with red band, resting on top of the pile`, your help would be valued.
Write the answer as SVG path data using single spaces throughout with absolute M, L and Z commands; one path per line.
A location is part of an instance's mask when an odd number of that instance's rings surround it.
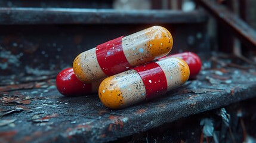
M 79 80 L 92 82 L 164 57 L 171 51 L 172 43 L 167 29 L 149 27 L 82 52 L 73 61 L 73 69 Z

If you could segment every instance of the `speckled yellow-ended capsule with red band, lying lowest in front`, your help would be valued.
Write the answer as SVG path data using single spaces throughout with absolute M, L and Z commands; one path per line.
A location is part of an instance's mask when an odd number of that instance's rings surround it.
M 107 77 L 99 86 L 98 96 L 106 107 L 128 107 L 183 85 L 189 73 L 184 60 L 166 58 Z

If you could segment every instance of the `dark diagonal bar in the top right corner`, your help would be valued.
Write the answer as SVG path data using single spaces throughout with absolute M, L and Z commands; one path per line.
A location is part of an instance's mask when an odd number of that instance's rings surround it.
M 255 49 L 256 31 L 245 21 L 241 20 L 238 15 L 231 13 L 227 8 L 212 1 L 200 0 L 199 4 L 220 20 L 243 44 Z

